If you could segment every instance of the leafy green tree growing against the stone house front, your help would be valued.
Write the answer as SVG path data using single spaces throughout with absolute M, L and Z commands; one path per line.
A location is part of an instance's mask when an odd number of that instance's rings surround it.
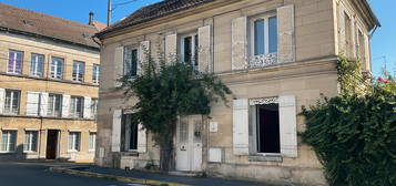
M 211 113 L 211 103 L 227 103 L 231 90 L 209 73 L 200 73 L 190 64 L 173 60 L 165 64 L 164 58 L 154 61 L 148 58 L 142 73 L 120 79 L 126 97 L 138 97 L 132 105 L 134 123 L 141 123 L 160 146 L 160 169 L 174 169 L 174 142 L 180 116 Z

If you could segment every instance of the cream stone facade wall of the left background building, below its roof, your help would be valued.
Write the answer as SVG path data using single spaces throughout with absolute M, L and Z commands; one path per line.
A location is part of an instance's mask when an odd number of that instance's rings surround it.
M 8 72 L 9 52 L 22 52 L 22 73 Z M 33 54 L 41 54 L 43 59 L 43 76 L 32 76 L 31 61 Z M 50 78 L 50 64 L 52 58 L 64 60 L 63 78 L 55 80 Z M 84 75 L 82 82 L 72 81 L 73 61 L 84 62 Z M 85 101 L 84 112 L 91 114 L 92 102 L 98 99 L 99 84 L 92 81 L 92 68 L 100 64 L 99 49 L 70 44 L 43 38 L 28 37 L 11 32 L 0 32 L 0 141 L 3 145 L 0 151 L 0 159 L 63 159 L 75 162 L 92 162 L 94 158 L 94 142 L 89 149 L 90 134 L 97 133 L 94 115 L 84 117 L 71 117 L 70 96 L 81 96 Z M 6 112 L 6 94 L 8 91 L 19 92 L 19 103 L 16 113 Z M 37 102 L 29 97 L 37 93 Z M 49 116 L 49 96 L 61 96 L 61 113 L 58 116 Z M 33 97 L 33 96 L 32 96 Z M 67 101 L 69 97 L 69 101 Z M 30 105 L 30 106 L 28 106 Z M 32 111 L 32 108 L 34 111 Z M 32 113 L 31 113 L 32 112 Z M 14 140 L 6 137 L 7 132 L 14 132 Z M 28 137 L 28 133 L 34 133 L 34 140 Z M 80 140 L 75 141 L 77 151 L 70 149 L 70 133 L 75 132 Z M 51 133 L 51 134 L 50 134 Z M 52 136 L 52 138 L 50 137 Z M 6 142 L 8 141 L 8 142 Z M 10 144 L 10 141 L 14 141 Z M 94 138 L 93 138 L 94 141 Z M 92 136 L 91 136 L 92 142 Z M 27 145 L 34 144 L 33 147 Z M 28 145 L 28 146 L 29 146 Z M 51 145 L 52 149 L 48 149 Z M 35 146 L 35 147 L 34 147 Z M 50 152 L 49 152 L 50 151 Z M 51 154 L 51 155 L 50 155 Z

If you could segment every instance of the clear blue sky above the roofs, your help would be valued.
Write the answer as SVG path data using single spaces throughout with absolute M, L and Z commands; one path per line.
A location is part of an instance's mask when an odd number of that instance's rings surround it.
M 112 11 L 112 22 L 158 1 L 160 0 L 112 0 L 115 8 Z M 0 2 L 82 23 L 88 22 L 90 11 L 95 13 L 97 21 L 105 23 L 108 17 L 108 0 L 0 0 Z M 396 0 L 369 0 L 369 3 L 382 23 L 372 38 L 373 74 L 380 75 L 386 63 L 387 71 L 395 75 Z

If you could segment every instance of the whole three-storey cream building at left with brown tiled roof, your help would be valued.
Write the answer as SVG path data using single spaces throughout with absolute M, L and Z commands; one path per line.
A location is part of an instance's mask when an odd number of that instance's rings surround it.
M 93 161 L 98 31 L 0 3 L 0 159 Z

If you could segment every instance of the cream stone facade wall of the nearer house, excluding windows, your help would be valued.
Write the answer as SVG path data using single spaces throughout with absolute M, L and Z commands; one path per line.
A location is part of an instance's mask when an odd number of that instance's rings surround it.
M 321 94 L 338 94 L 335 63 L 348 44 L 353 45 L 348 58 L 364 56 L 362 70 L 370 71 L 369 34 L 375 16 L 369 12 L 363 1 L 353 0 L 217 0 L 102 35 L 95 163 L 138 169 L 159 163 L 159 148 L 150 133 L 139 138 L 144 132 L 138 132 L 138 146 L 144 147 L 122 148 L 125 142 L 120 116 L 136 102 L 115 90 L 123 68 L 122 51 L 150 43 L 154 58 L 164 51 L 180 55 L 183 35 L 197 33 L 204 51 L 199 55 L 199 69 L 219 75 L 233 97 L 231 106 L 213 104 L 212 113 L 202 116 L 201 162 L 199 168 L 190 170 L 264 183 L 326 185 L 315 153 L 297 136 L 305 128 L 297 114 L 303 105 L 315 104 Z M 351 28 L 345 24 L 345 14 L 351 17 Z M 257 62 L 251 60 L 252 20 L 267 16 L 277 18 L 277 53 L 260 56 Z M 346 29 L 351 29 L 351 41 Z M 362 32 L 363 42 L 357 42 L 356 30 Z M 255 149 L 257 132 L 252 114 L 257 105 L 268 102 L 280 104 L 281 152 L 276 154 Z M 177 158 L 176 154 L 176 163 Z

